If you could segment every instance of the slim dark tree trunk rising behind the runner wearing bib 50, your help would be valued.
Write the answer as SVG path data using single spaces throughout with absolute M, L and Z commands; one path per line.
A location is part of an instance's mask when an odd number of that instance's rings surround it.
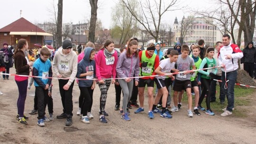
M 63 0 L 58 2 L 58 17 L 57 17 L 57 46 L 62 45 L 62 11 L 63 11 Z

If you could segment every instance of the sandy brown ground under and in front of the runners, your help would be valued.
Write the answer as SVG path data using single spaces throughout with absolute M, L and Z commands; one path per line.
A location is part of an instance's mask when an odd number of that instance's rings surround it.
M 10 73 L 15 69 L 11 68 Z M 62 113 L 61 97 L 58 81 L 53 81 L 54 115 Z M 46 122 L 46 126 L 37 126 L 37 115 L 29 115 L 33 108 L 35 87 L 27 91 L 25 115 L 29 117 L 28 125 L 17 122 L 18 88 L 14 77 L 10 80 L 0 79 L 0 144 L 256 144 L 255 105 L 250 108 L 250 116 L 237 118 L 221 117 L 220 113 L 209 116 L 201 112 L 201 116 L 187 117 L 186 104 L 173 114 L 172 119 L 160 117 L 149 119 L 147 113 L 134 114 L 136 108 L 130 109 L 131 121 L 121 119 L 119 111 L 114 110 L 115 89 L 110 86 L 106 104 L 107 124 L 99 122 L 100 90 L 94 90 L 91 124 L 81 122 L 76 115 L 80 90 L 75 83 L 73 88 L 73 125 L 65 126 L 65 119 L 54 119 Z M 249 96 L 255 104 L 255 95 Z M 145 110 L 148 109 L 145 97 Z M 46 108 L 46 116 L 48 111 Z

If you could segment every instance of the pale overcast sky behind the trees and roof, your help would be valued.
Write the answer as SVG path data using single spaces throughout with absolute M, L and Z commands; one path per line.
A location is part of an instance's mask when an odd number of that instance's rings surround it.
M 51 21 L 54 18 L 49 9 L 53 9 L 54 0 L 0 0 L 0 28 L 5 27 L 13 21 L 20 18 L 20 10 L 22 10 L 21 17 L 27 19 L 32 23 L 43 23 Z M 111 25 L 111 9 L 114 8 L 118 0 L 99 0 L 98 18 L 101 19 L 104 28 L 110 28 Z M 178 0 L 182 1 L 181 6 L 189 6 L 197 9 L 210 6 L 206 1 L 208 0 Z M 214 0 L 217 1 L 217 0 Z M 57 5 L 58 0 L 55 0 Z M 184 8 L 186 9 L 186 8 Z M 186 10 L 176 10 L 166 13 L 163 17 L 165 23 L 174 23 L 174 18 L 181 20 L 183 15 L 189 15 Z M 91 6 L 89 0 L 63 0 L 63 23 L 73 22 L 78 24 L 90 19 Z

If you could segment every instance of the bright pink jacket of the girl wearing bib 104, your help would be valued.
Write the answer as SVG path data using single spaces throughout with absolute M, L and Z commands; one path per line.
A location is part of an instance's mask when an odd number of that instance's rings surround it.
M 116 66 L 118 61 L 117 52 L 112 55 L 114 56 L 113 64 L 106 64 L 106 57 L 104 55 L 104 49 L 101 49 L 97 54 L 96 59 L 96 77 L 101 80 L 101 78 L 116 78 Z

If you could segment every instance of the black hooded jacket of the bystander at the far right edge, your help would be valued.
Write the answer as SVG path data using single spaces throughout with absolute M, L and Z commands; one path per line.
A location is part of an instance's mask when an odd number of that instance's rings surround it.
M 243 50 L 244 56 L 241 58 L 240 63 L 256 63 L 256 49 L 253 46 L 252 48 L 249 48 L 249 45 L 253 42 L 248 43 L 247 47 Z

